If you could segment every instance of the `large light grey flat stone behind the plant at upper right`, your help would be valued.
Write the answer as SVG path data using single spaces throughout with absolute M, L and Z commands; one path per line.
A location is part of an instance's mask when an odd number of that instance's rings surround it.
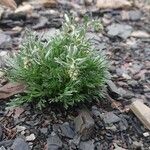
M 122 39 L 127 39 L 131 35 L 133 28 L 126 24 L 113 23 L 107 27 L 107 30 L 107 34 L 110 37 L 118 36 Z

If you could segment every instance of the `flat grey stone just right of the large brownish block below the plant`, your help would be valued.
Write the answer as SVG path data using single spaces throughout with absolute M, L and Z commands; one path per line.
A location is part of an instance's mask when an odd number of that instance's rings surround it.
M 121 119 L 115 115 L 113 112 L 107 112 L 107 113 L 104 113 L 103 115 L 101 115 L 103 121 L 106 123 L 106 124 L 112 124 L 112 123 L 116 123 L 116 122 L 119 122 Z

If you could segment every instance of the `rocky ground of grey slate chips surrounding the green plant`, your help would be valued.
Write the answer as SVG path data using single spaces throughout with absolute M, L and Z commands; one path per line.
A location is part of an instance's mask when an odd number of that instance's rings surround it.
M 150 132 L 129 110 L 134 100 L 150 106 L 150 7 L 136 0 L 117 4 L 45 0 L 27 2 L 16 12 L 0 8 L 1 68 L 7 54 L 19 49 L 26 28 L 45 33 L 46 39 L 61 27 L 63 14 L 70 13 L 79 22 L 88 15 L 102 23 L 103 31 L 89 30 L 87 38 L 108 55 L 112 76 L 105 103 L 68 111 L 58 106 L 42 112 L 29 105 L 12 109 L 8 100 L 0 100 L 0 150 L 150 149 Z M 3 86 L 7 81 L 2 72 L 0 76 Z

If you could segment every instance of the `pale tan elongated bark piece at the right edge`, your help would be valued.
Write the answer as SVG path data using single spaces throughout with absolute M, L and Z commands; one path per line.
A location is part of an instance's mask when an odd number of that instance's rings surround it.
M 150 130 L 150 108 L 140 101 L 134 101 L 130 109 L 139 120 Z

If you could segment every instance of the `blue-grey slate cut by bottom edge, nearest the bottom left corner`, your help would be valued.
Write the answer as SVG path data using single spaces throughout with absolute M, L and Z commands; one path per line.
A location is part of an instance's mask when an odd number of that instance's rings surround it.
M 29 145 L 22 138 L 16 138 L 13 145 L 11 146 L 12 150 L 30 150 Z

